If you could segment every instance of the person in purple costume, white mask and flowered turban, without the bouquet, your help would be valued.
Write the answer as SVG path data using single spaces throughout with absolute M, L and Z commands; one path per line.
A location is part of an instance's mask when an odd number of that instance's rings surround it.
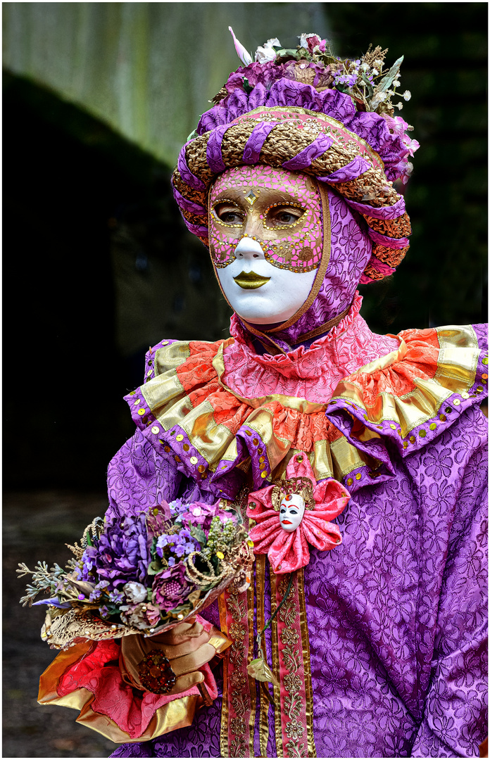
M 399 62 L 386 72 L 380 49 L 342 62 L 315 35 L 296 51 L 269 40 L 256 62 L 237 50 L 245 65 L 173 173 L 234 309 L 231 337 L 149 351 L 126 398 L 137 429 L 110 463 L 108 514 L 176 497 L 239 502 L 254 582 L 205 611 L 231 642 L 211 706 L 196 711 L 196 683 L 220 644 L 199 621 L 139 649 L 126 641 L 119 664 L 116 642 L 68 650 L 43 701 L 72 700 L 79 720 L 122 743 L 115 757 L 475 755 L 485 331 L 384 336 L 359 313 L 358 283 L 393 274 L 409 245 L 393 182 L 418 144 L 393 116 Z M 309 510 L 332 479 L 344 502 L 326 546 Z M 182 679 L 164 697 L 138 681 L 151 647 Z M 271 666 L 265 688 L 257 657 Z

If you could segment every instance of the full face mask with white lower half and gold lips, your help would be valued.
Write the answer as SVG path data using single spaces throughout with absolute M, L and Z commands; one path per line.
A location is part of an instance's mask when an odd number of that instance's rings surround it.
M 291 318 L 310 295 L 323 249 L 319 192 L 285 169 L 228 169 L 209 195 L 209 242 L 232 309 L 256 325 Z

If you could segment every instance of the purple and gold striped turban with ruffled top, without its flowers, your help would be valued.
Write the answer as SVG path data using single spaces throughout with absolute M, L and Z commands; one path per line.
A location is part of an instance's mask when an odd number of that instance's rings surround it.
M 393 188 L 407 154 L 383 116 L 358 112 L 337 90 L 282 78 L 269 89 L 235 89 L 202 115 L 180 151 L 173 194 L 189 230 L 208 245 L 208 190 L 225 169 L 264 163 L 315 176 L 364 217 L 368 283 L 393 274 L 409 248 L 409 217 Z

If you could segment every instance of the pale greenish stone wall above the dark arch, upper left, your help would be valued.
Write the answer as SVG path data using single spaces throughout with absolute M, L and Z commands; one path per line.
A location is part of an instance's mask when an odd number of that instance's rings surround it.
M 326 28 L 320 3 L 32 2 L 3 7 L 3 62 L 171 166 L 237 54 Z M 297 31 L 300 30 L 300 31 Z M 296 44 L 296 43 L 295 43 Z

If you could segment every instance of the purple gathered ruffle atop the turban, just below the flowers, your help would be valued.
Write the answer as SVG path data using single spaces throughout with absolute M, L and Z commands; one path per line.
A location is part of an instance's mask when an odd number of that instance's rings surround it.
M 197 125 L 197 135 L 204 135 L 219 126 L 230 124 L 239 116 L 260 106 L 296 106 L 318 113 L 325 113 L 342 122 L 349 130 L 365 140 L 380 155 L 387 179 L 397 179 L 406 166 L 409 150 L 399 135 L 392 134 L 386 119 L 377 113 L 357 111 L 352 98 L 338 90 L 318 92 L 310 84 L 282 78 L 270 89 L 256 84 L 250 93 L 236 88 L 216 106 L 202 114 Z

